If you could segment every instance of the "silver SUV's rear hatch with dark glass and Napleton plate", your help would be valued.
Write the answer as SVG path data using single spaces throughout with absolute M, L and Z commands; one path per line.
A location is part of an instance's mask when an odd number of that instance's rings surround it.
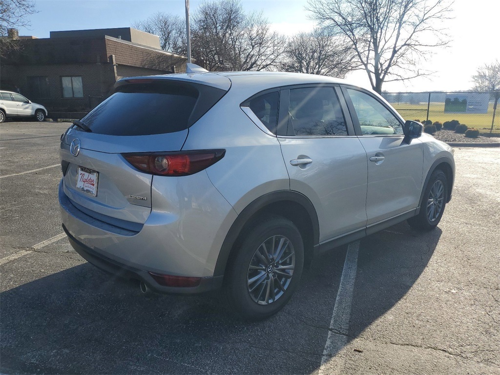
M 227 89 L 164 77 L 118 81 L 61 138 L 64 193 L 93 218 L 140 230 L 151 211 L 152 175 L 122 154 L 180 150 L 189 126 Z

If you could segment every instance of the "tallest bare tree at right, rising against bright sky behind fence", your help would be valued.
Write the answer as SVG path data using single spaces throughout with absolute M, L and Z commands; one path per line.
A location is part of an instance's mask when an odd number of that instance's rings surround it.
M 312 18 L 350 40 L 358 68 L 381 93 L 383 82 L 426 75 L 419 57 L 448 43 L 448 0 L 309 0 Z

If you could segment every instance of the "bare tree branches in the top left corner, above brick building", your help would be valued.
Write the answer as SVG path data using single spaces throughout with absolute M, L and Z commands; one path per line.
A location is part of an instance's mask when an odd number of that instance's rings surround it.
M 19 48 L 17 40 L 7 38 L 8 29 L 29 26 L 28 16 L 36 12 L 34 1 L 0 0 L 0 55 L 3 56 L 10 49 Z

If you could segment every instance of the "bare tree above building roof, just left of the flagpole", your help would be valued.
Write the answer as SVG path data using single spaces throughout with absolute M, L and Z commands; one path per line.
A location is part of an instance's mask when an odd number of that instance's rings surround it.
M 161 49 L 186 54 L 185 22 L 178 15 L 157 12 L 145 20 L 135 21 L 132 27 L 158 35 Z

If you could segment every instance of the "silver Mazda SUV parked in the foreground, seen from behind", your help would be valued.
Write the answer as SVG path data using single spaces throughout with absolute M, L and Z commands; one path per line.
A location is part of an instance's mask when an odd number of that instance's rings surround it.
M 222 288 L 262 319 L 318 253 L 402 220 L 439 222 L 451 148 L 379 95 L 325 76 L 124 78 L 61 137 L 63 228 L 143 291 Z

